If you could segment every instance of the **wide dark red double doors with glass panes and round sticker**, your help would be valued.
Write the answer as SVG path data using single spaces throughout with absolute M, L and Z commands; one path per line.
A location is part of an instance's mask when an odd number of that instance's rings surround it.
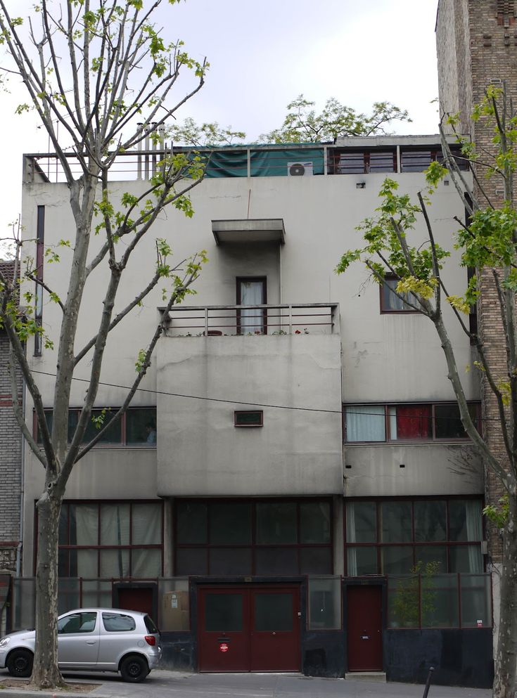
M 202 588 L 200 671 L 300 671 L 297 586 Z

